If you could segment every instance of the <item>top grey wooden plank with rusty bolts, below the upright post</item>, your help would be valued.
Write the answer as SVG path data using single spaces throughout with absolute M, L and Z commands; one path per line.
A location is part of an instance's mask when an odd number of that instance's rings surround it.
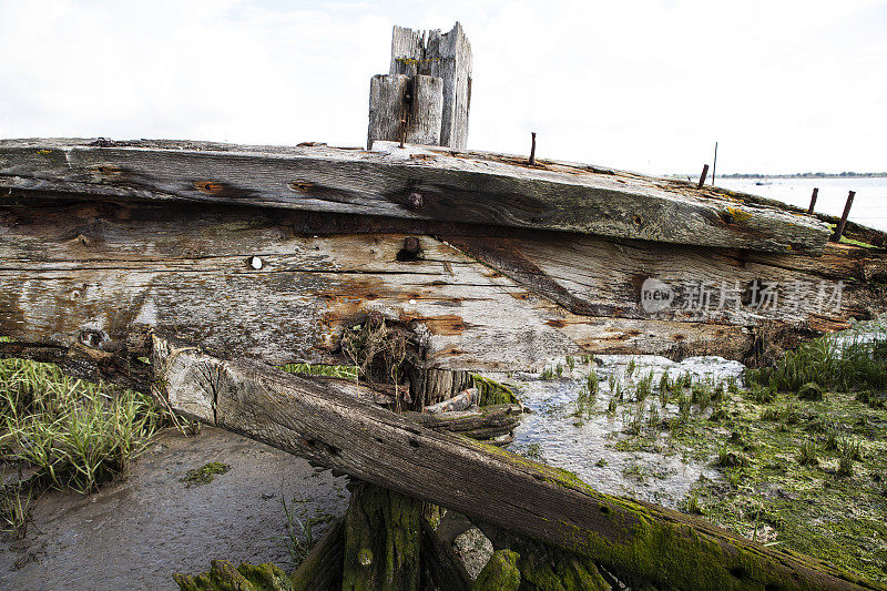
M 766 252 L 819 252 L 828 227 L 718 188 L 524 157 L 139 141 L 0 141 L 0 188 L 261 205 L 561 230 Z

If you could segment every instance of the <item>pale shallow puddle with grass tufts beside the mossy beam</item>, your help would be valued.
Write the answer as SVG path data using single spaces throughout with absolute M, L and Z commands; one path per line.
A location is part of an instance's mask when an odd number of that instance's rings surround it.
M 667 371 L 670 379 L 691 375 L 694 381 L 710 381 L 713 385 L 735 379 L 742 384 L 745 367 L 738 361 L 721 357 L 692 357 L 683 361 L 672 361 L 659 356 L 608 355 L 589 363 L 575 361 L 571 370 L 565 359 L 552 359 L 549 368 L 560 364 L 563 374 L 560 378 L 540 379 L 534 374 L 491 375 L 518 389 L 521 403 L 532 412 L 524 415 L 514 431 L 514 442 L 510 449 L 534 457 L 546 463 L 575 472 L 597 490 L 609 495 L 630 496 L 665 507 L 677 508 L 691 486 L 700 476 L 720 479 L 718 470 L 710 466 L 708 459 L 693 459 L 667 449 L 670 432 L 665 428 L 644 429 L 645 437 L 655 437 L 663 448 L 662 454 L 649 451 L 620 451 L 619 441 L 629 439 L 625 432 L 631 417 L 639 406 L 633 399 L 638 384 L 650 379 L 652 373 L 653 393 L 643 403 L 645 410 L 651 403 L 656 406 L 660 418 L 679 415 L 677 405 L 672 401 L 660 407 L 656 397 L 660 380 Z M 630 371 L 631 366 L 634 366 Z M 599 391 L 591 407 L 590 416 L 574 416 L 577 400 L 585 379 L 591 371 L 598 376 Z M 557 371 L 555 371 L 557 374 Z M 624 393 L 625 401 L 619 404 L 615 412 L 608 412 L 611 391 L 611 376 Z M 649 411 L 649 410 L 648 410 Z

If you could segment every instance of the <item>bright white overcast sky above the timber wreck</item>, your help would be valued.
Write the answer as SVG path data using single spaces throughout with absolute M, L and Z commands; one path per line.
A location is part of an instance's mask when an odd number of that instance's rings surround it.
M 475 64 L 469 147 L 654 174 L 887 170 L 887 0 L 0 0 L 0 137 L 361 145 L 391 26 Z

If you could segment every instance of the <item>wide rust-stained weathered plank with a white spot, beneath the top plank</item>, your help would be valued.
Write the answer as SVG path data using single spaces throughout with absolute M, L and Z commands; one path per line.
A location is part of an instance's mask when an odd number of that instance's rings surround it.
M 785 342 L 776 344 L 791 346 L 885 308 L 867 282 L 887 276 L 887 259 L 852 256 L 865 249 L 843 245 L 820 258 L 751 261 L 558 233 L 502 237 L 476 226 L 476 235 L 427 224 L 410 234 L 404 224 L 249 207 L 0 206 L 0 334 L 115 351 L 146 325 L 274 365 L 335 363 L 343 330 L 379 310 L 425 335 L 426 367 L 504 370 L 583 353 L 742 359 L 763 324 L 784 326 Z M 320 228 L 339 233 L 314 234 Z M 407 237 L 420 246 L 415 259 L 401 256 Z M 840 309 L 823 314 L 776 307 L 651 315 L 640 305 L 646 276 L 792 278 L 810 296 L 820 284 L 829 294 L 839 281 L 846 287 Z

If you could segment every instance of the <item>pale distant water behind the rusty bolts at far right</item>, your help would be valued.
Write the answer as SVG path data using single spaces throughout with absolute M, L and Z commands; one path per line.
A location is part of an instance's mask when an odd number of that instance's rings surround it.
M 852 222 L 887 231 L 887 177 L 871 179 L 716 179 L 717 186 L 778 200 L 807 208 L 813 187 L 819 187 L 816 211 L 840 217 L 847 193 L 856 191 Z M 769 183 L 769 184 L 756 184 Z

